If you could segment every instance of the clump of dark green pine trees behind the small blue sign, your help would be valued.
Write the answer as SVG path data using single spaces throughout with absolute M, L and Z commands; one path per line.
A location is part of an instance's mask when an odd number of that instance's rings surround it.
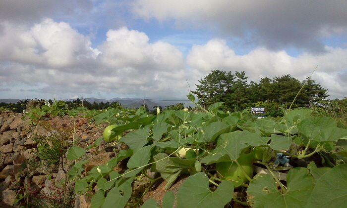
M 198 103 L 204 107 L 220 101 L 225 102 L 222 106 L 225 111 L 262 106 L 272 117 L 283 116 L 279 107 L 308 107 L 329 96 L 327 89 L 310 77 L 301 82 L 290 75 L 273 79 L 265 77 L 258 83 L 248 82 L 247 79 L 245 72 L 215 70 L 200 80 L 192 93 L 197 95 Z

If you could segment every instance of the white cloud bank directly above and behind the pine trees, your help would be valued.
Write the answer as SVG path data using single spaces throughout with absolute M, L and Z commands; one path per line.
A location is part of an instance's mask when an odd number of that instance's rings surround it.
M 194 45 L 187 56 L 187 64 L 194 68 L 196 74 L 202 79 L 212 70 L 231 72 L 245 71 L 248 81 L 258 82 L 261 78 L 281 77 L 289 74 L 303 81 L 312 75 L 317 83 L 328 88 L 332 97 L 344 97 L 347 84 L 341 79 L 347 73 L 341 74 L 347 66 L 347 49 L 325 48 L 327 53 L 304 53 L 292 57 L 286 51 L 271 51 L 259 47 L 247 54 L 236 55 L 226 44 L 225 40 L 213 39 L 203 45 Z

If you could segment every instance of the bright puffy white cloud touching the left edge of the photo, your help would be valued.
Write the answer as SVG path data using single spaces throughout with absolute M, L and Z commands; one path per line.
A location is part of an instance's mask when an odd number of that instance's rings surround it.
M 80 56 L 93 55 L 91 42 L 64 22 L 45 19 L 30 29 L 2 23 L 0 59 L 45 67 L 75 65 Z

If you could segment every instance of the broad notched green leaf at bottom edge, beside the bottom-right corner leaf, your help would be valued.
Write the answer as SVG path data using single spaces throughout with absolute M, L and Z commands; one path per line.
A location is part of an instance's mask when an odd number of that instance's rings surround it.
M 254 208 L 305 208 L 315 179 L 307 168 L 295 167 L 287 174 L 287 191 L 281 192 L 268 174 L 257 174 L 249 183 L 247 194 L 253 196 Z M 314 208 L 314 207 L 310 207 Z

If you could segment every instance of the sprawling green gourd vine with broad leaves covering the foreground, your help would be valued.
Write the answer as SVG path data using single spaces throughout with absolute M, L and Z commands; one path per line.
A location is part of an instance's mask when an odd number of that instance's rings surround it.
M 189 94 L 193 103 L 195 98 Z M 91 208 L 157 208 L 154 199 L 143 195 L 159 179 L 169 189 L 180 175 L 189 175 L 178 192 L 164 196 L 163 208 L 340 208 L 347 201 L 347 129 L 336 120 L 312 117 L 310 109 L 283 109 L 281 119 L 248 120 L 247 111 L 223 112 L 223 102 L 193 113 L 187 109 L 147 115 L 110 109 L 94 117 L 96 125 L 107 123 L 107 135 L 85 148 L 72 146 L 67 159 L 72 168 L 68 181 L 74 181 L 75 194 L 92 194 Z M 126 132 L 126 133 L 124 133 Z M 126 144 L 107 163 L 85 172 L 86 150 L 102 139 Z M 278 154 L 290 160 L 305 160 L 306 166 L 275 165 Z M 320 160 L 309 161 L 312 156 Z M 117 168 L 126 163 L 123 169 Z M 253 164 L 270 174 L 256 174 Z M 308 164 L 308 165 L 307 165 Z M 281 164 L 280 164 L 281 165 Z M 226 168 L 227 167 L 227 168 Z M 285 169 L 287 180 L 273 171 Z M 159 172 L 152 178 L 147 172 Z M 140 197 L 133 183 L 149 179 Z M 242 193 L 241 195 L 235 193 Z M 242 196 L 242 197 L 238 197 Z M 246 196 L 246 197 L 244 197 Z

